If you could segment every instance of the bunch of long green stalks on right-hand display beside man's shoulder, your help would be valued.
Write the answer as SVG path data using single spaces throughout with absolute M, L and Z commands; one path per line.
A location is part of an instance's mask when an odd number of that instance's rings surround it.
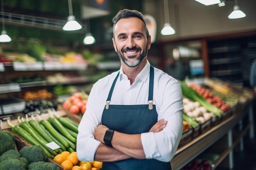
M 204 106 L 208 111 L 210 111 L 211 113 L 213 113 L 214 115 L 220 117 L 223 112 L 217 108 L 216 106 L 214 106 L 213 104 L 209 103 L 204 97 L 202 97 L 201 95 L 199 95 L 194 89 L 190 88 L 186 82 L 182 82 L 180 81 L 180 85 L 182 88 L 182 94 L 194 101 L 194 102 L 199 102 L 201 106 Z

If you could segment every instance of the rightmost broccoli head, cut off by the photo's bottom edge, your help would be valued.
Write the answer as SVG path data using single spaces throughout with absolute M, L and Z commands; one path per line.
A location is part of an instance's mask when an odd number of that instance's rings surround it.
M 55 163 L 38 161 L 30 163 L 28 170 L 60 170 L 60 168 Z

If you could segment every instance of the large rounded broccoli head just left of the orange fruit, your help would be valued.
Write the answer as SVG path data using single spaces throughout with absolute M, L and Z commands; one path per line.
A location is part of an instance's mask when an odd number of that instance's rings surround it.
M 39 145 L 25 146 L 20 151 L 19 154 L 21 157 L 25 157 L 28 163 L 46 161 L 47 156 L 45 151 Z

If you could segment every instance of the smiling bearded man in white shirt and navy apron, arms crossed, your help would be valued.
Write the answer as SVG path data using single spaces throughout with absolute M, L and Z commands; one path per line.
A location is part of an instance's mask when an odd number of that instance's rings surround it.
M 102 170 L 171 170 L 183 129 L 180 84 L 150 66 L 151 37 L 140 12 L 121 10 L 113 23 L 121 68 L 92 87 L 77 156 L 103 161 Z

